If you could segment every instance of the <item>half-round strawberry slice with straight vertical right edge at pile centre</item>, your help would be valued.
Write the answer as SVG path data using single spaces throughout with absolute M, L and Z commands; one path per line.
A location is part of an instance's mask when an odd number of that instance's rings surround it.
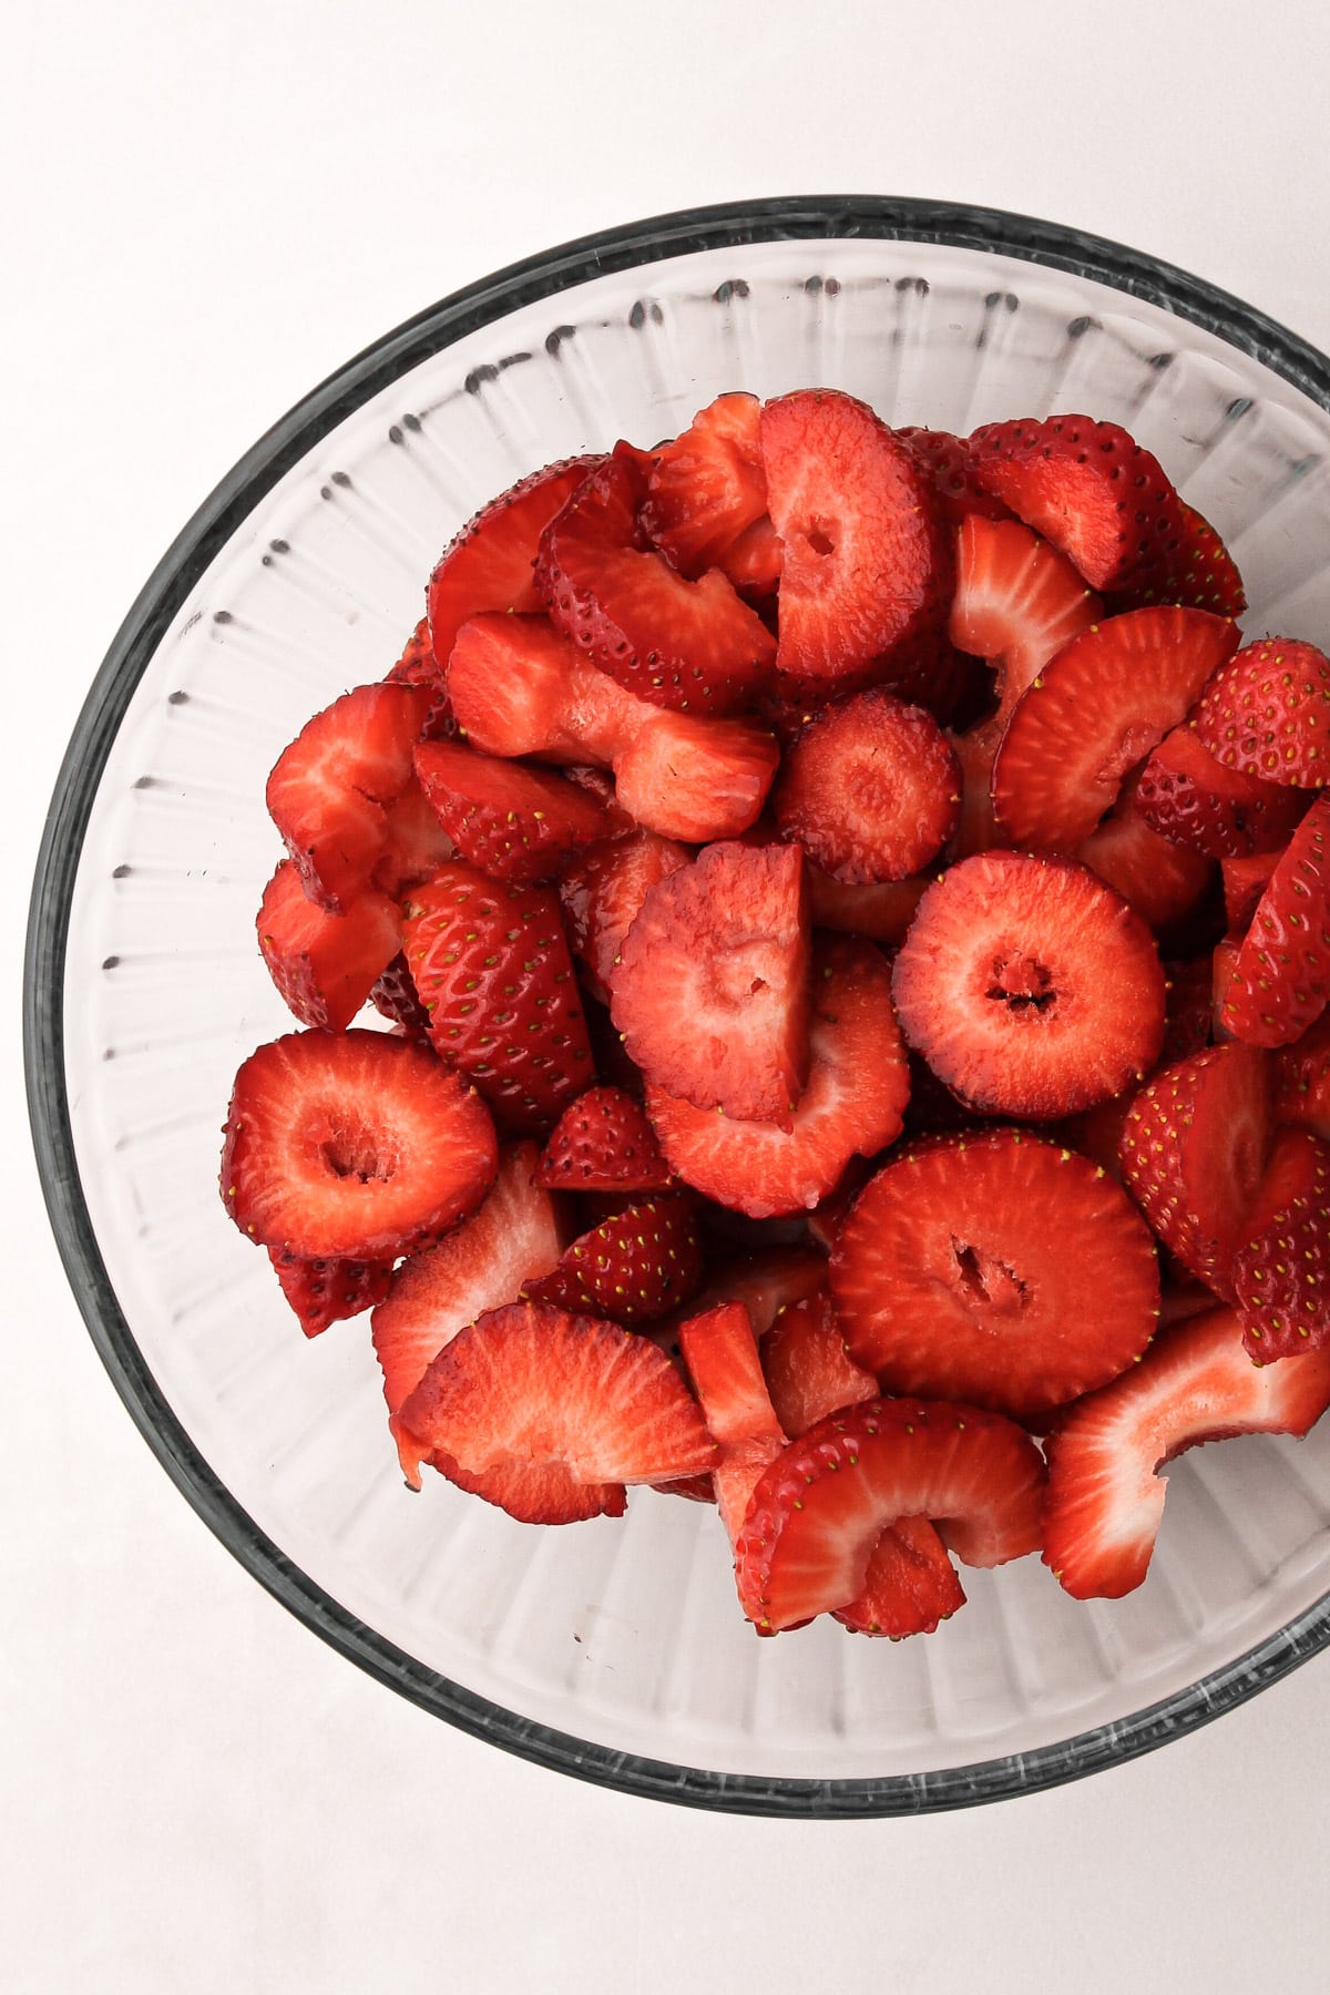
M 790 1127 L 808 1079 L 804 856 L 716 844 L 652 886 L 610 1013 L 648 1081 L 700 1109 Z

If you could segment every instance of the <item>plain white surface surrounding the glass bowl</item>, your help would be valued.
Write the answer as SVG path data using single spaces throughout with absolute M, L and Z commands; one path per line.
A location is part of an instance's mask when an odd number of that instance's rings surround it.
M 538 1772 L 323 1648 L 173 1492 L 92 1353 L 28 1161 L 18 958 L 116 624 L 353 351 L 548 243 L 792 192 L 1077 223 L 1330 347 L 1328 22 L 1312 0 L 10 10 L 0 1987 L 1326 1985 L 1330 1658 L 1075 1788 L 800 1825 Z

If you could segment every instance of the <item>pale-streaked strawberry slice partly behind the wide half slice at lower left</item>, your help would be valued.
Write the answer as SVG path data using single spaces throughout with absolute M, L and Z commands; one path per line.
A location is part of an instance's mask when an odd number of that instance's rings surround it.
M 461 1329 L 489 1309 L 516 1303 L 522 1283 L 548 1275 L 562 1253 L 560 1203 L 534 1183 L 536 1159 L 534 1143 L 514 1143 L 500 1155 L 485 1203 L 437 1247 L 403 1261 L 375 1309 L 389 1426 L 413 1488 L 421 1486 L 429 1450 L 401 1424 L 405 1400 Z

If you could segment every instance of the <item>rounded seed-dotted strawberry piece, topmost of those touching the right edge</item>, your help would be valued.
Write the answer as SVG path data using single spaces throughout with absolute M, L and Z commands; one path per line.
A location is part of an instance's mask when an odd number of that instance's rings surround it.
M 1298 638 L 1246 644 L 1206 686 L 1196 734 L 1226 768 L 1320 790 L 1330 780 L 1330 658 Z

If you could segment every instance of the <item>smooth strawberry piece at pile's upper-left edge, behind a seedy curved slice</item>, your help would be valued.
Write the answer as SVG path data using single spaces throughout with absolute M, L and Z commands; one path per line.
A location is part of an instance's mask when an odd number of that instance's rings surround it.
M 469 616 L 540 608 L 532 581 L 540 535 L 598 463 L 598 457 L 570 457 L 532 471 L 491 499 L 445 547 L 429 579 L 429 628 L 441 668 Z

